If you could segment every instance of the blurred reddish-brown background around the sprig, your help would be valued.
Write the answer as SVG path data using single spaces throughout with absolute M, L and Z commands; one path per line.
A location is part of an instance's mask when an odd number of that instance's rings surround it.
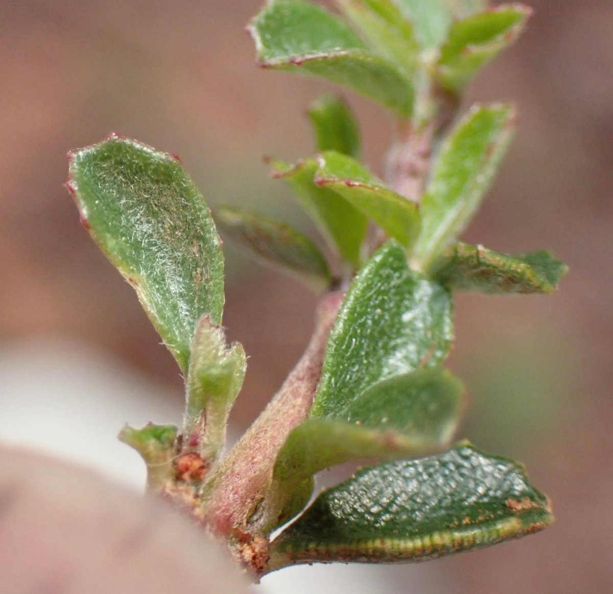
M 66 152 L 111 130 L 180 154 L 211 204 L 249 204 L 313 233 L 262 156 L 310 154 L 303 111 L 328 87 L 257 69 L 244 27 L 260 4 L 0 4 L 2 345 L 94 344 L 182 398 L 172 357 L 63 187 Z M 504 252 L 547 247 L 571 273 L 554 296 L 460 296 L 451 365 L 471 396 L 461 436 L 524 461 L 557 523 L 437 562 L 424 592 L 613 590 L 613 4 L 531 5 L 527 34 L 471 89 L 471 100 L 517 102 L 520 126 L 465 238 Z M 390 121 L 349 99 L 381 172 Z M 224 324 L 251 357 L 232 416 L 242 430 L 302 352 L 315 298 L 231 246 L 227 258 Z M 411 571 L 389 570 L 398 592 Z

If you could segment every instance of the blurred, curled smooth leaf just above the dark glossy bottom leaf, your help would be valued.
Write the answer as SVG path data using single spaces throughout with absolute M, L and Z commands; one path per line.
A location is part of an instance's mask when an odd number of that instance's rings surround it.
M 376 383 L 345 410 L 311 416 L 287 438 L 274 478 L 295 484 L 319 470 L 364 457 L 423 456 L 449 443 L 462 407 L 462 383 L 441 367 Z

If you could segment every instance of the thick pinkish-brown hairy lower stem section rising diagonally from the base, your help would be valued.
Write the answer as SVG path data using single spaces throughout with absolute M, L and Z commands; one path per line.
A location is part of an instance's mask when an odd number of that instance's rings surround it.
M 280 391 L 234 446 L 211 479 L 204 497 L 208 526 L 218 535 L 248 534 L 249 519 L 262 505 L 278 451 L 287 435 L 307 418 L 321 376 L 330 328 L 343 300 L 340 292 L 322 299 L 311 342 Z

